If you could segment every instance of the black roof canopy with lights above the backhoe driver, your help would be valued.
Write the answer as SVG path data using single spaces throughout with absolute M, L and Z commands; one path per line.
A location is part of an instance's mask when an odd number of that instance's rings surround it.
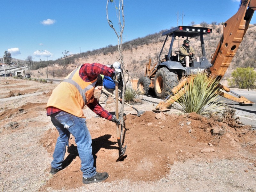
M 212 29 L 210 28 L 203 28 L 203 27 L 192 27 L 192 26 L 178 26 L 172 28 L 168 31 L 164 31 L 162 36 L 178 36 L 178 37 L 190 37 L 194 38 L 200 36 L 200 34 L 205 35 L 212 33 Z

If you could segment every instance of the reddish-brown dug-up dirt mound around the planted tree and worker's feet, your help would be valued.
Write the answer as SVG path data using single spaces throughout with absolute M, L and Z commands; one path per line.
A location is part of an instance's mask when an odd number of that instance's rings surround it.
M 92 148 L 97 171 L 106 171 L 105 182 L 127 179 L 155 181 L 166 176 L 174 162 L 188 159 L 211 162 L 215 158 L 241 158 L 243 149 L 255 156 L 256 131 L 251 126 L 232 128 L 227 123 L 205 118 L 196 113 L 177 116 L 145 112 L 141 117 L 124 116 L 124 159 L 116 162 L 118 146 L 116 125 L 102 118 L 91 118 L 87 126 L 92 136 Z M 52 154 L 59 134 L 48 130 L 40 140 Z M 40 188 L 70 189 L 82 186 L 80 158 L 74 137 L 69 140 L 64 168 Z M 253 159 L 248 159 L 255 163 Z M 50 167 L 49 167 L 50 171 Z M 81 182 L 77 182 L 81 180 Z M 61 185 L 60 185 L 61 183 Z

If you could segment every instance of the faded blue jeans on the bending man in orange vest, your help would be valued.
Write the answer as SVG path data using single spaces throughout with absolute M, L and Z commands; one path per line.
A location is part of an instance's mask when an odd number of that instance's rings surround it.
M 96 175 L 96 168 L 93 166 L 92 138 L 86 126 L 85 119 L 64 111 L 54 113 L 50 116 L 52 124 L 60 134 L 53 153 L 52 168 L 62 168 L 66 146 L 68 146 L 68 140 L 71 133 L 75 137 L 77 151 L 81 159 L 81 171 L 83 172 L 83 177 L 91 178 Z

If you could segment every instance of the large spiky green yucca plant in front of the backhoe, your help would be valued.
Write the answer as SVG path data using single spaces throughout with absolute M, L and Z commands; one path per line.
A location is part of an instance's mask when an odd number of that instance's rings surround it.
M 209 77 L 207 73 L 200 72 L 196 76 L 188 78 L 188 83 L 183 87 L 183 94 L 176 90 L 172 98 L 179 105 L 175 105 L 184 113 L 195 112 L 199 115 L 210 115 L 219 113 L 225 109 L 223 101 L 219 98 L 219 81 L 214 77 Z M 179 92 L 180 91 L 180 92 Z M 179 98 L 179 99 L 175 99 Z

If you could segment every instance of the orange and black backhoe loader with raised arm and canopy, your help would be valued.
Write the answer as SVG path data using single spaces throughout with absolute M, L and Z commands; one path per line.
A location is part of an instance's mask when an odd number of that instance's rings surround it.
M 205 57 L 203 36 L 212 33 L 212 29 L 178 26 L 163 32 L 162 36 L 166 36 L 166 38 L 161 51 L 158 53 L 157 63 L 151 68 L 151 59 L 149 60 L 146 64 L 144 77 L 138 80 L 137 87 L 143 90 L 146 96 L 149 94 L 149 91 L 153 89 L 156 97 L 164 99 L 164 101 L 161 101 L 156 106 L 156 110 L 166 111 L 172 106 L 175 100 L 179 99 L 174 99 L 173 95 L 178 90 L 181 91 L 184 85 L 188 83 L 189 78 L 193 78 L 198 71 L 208 70 L 210 77 L 214 76 L 218 80 L 222 79 L 243 40 L 255 10 L 256 0 L 241 0 L 236 14 L 223 25 L 223 35 L 220 38 L 220 42 L 212 56 L 211 62 Z M 164 56 L 164 59 L 160 59 L 168 37 L 172 38 L 169 52 Z M 192 57 L 189 67 L 186 67 L 184 61 L 179 60 L 179 51 L 175 52 L 176 55 L 172 55 L 172 46 L 177 37 L 186 38 L 188 40 L 189 38 L 200 38 L 202 57 L 199 59 L 199 62 L 195 61 Z M 230 91 L 230 89 L 224 85 L 219 84 L 218 87 L 221 91 L 220 96 L 222 97 L 238 102 L 241 105 L 254 104 L 245 97 Z M 237 97 L 228 94 L 228 92 Z

